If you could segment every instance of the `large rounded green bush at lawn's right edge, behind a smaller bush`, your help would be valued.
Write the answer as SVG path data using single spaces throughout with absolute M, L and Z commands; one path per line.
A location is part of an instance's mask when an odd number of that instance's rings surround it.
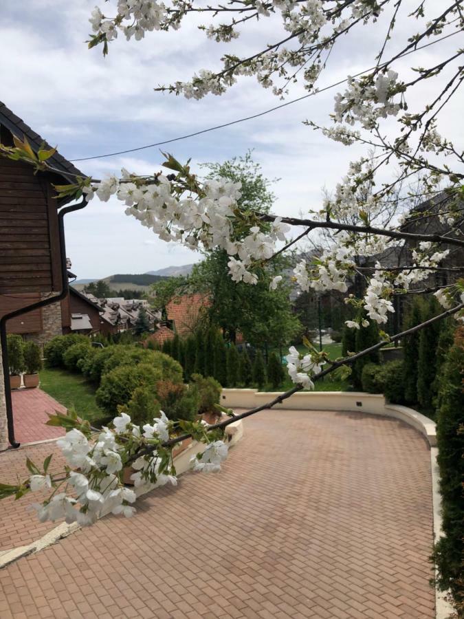
M 148 363 L 120 365 L 102 376 L 96 391 L 96 402 L 100 409 L 116 415 L 118 406 L 128 404 L 137 387 L 146 387 L 156 394 L 156 384 L 164 378 L 161 367 Z

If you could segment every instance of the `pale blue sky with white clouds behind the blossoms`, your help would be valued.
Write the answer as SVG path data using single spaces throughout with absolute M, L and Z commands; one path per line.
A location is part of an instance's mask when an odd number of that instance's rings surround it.
M 197 30 L 201 20 L 191 19 L 178 32 L 156 32 L 141 42 L 126 43 L 120 37 L 111 43 L 109 56 L 103 58 L 100 48 L 87 50 L 85 44 L 90 32 L 87 20 L 95 4 L 96 0 L 1 2 L 0 100 L 50 143 L 57 144 L 66 158 L 73 160 L 169 140 L 279 104 L 254 78 L 241 78 L 224 96 L 211 95 L 201 101 L 154 92 L 153 87 L 188 80 L 199 69 L 219 68 L 219 58 L 228 46 L 208 41 Z M 410 3 L 406 5 L 411 8 Z M 432 9 L 441 5 L 441 0 L 427 3 Z M 109 12 L 107 7 L 104 9 Z M 407 12 L 398 19 L 388 44 L 391 52 L 401 49 L 405 37 L 417 30 L 411 19 L 403 19 Z M 278 40 L 281 32 L 276 19 L 252 24 L 232 44 L 234 53 L 256 52 L 260 44 Z M 385 33 L 386 21 L 380 20 L 375 26 L 362 28 L 360 36 L 341 41 L 320 78 L 320 87 L 373 65 Z M 462 47 L 462 39 L 458 35 L 417 52 L 414 63 L 410 56 L 395 68 L 402 72 L 401 77 L 407 77 L 411 65 L 434 63 L 443 51 Z M 412 107 L 431 87 L 425 85 L 412 95 Z M 358 147 L 347 149 L 331 142 L 302 125 L 305 118 L 327 124 L 338 90 L 165 148 L 179 160 L 191 157 L 194 166 L 220 162 L 254 149 L 254 158 L 263 166 L 265 175 L 280 178 L 274 186 L 274 211 L 280 215 L 305 213 L 320 206 L 322 189 L 333 188 L 348 162 L 362 152 Z M 301 94 L 297 85 L 289 98 Z M 456 97 L 440 125 L 441 132 L 451 132 L 461 144 L 462 105 L 462 96 Z M 118 173 L 122 166 L 148 173 L 158 170 L 161 161 L 162 155 L 155 148 L 76 165 L 84 173 L 101 177 L 108 172 Z M 198 254 L 159 241 L 123 211 L 117 201 L 93 201 L 67 218 L 67 254 L 79 278 L 146 272 L 199 259 Z

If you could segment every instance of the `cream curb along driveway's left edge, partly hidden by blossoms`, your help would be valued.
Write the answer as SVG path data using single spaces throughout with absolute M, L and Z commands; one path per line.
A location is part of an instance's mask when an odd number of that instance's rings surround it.
M 236 445 L 239 440 L 243 437 L 243 422 L 241 420 L 236 421 L 228 428 L 226 428 L 226 435 L 228 436 L 228 446 L 233 447 Z M 177 477 L 179 475 L 184 475 L 190 470 L 190 459 L 195 456 L 197 453 L 203 453 L 206 449 L 206 445 L 203 443 L 198 443 L 197 441 L 192 442 L 186 448 L 186 450 L 179 453 L 177 457 L 174 458 L 174 464 L 177 472 Z M 145 492 L 137 493 L 137 497 L 141 497 L 142 495 L 148 494 L 148 492 L 153 492 L 153 490 L 146 490 Z M 104 518 L 108 514 L 102 514 L 100 518 Z M 54 527 L 51 531 L 45 533 L 40 539 L 26 545 L 26 546 L 18 546 L 16 548 L 11 548 L 10 550 L 2 550 L 0 552 L 0 569 L 3 567 L 7 567 L 14 561 L 17 561 L 19 558 L 24 556 L 28 556 L 30 554 L 34 554 L 35 552 L 39 552 L 40 550 L 44 550 L 48 546 L 55 544 L 78 531 L 80 527 L 77 523 L 67 524 L 65 522 L 60 523 L 56 527 Z

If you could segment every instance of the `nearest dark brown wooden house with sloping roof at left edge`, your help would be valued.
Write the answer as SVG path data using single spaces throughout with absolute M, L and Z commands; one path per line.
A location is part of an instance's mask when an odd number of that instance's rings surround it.
M 0 102 L 0 142 L 12 146 L 13 137 L 26 139 L 34 151 L 52 148 Z M 0 450 L 8 446 L 8 439 L 18 446 L 5 351 L 7 316 L 16 312 L 10 325 L 21 331 L 28 328 L 21 310 L 32 306 L 29 320 L 34 329 L 41 327 L 47 337 L 61 332 L 60 301 L 68 288 L 63 217 L 85 206 L 82 199 L 62 208 L 71 197 L 56 199 L 53 187 L 85 175 L 59 153 L 48 162 L 53 172 L 34 174 L 29 164 L 0 157 Z

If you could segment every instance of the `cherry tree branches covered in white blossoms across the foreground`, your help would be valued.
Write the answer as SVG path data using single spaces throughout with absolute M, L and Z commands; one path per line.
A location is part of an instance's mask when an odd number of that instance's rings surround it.
M 91 14 L 93 34 L 89 43 L 89 47 L 102 45 L 104 54 L 119 34 L 128 40 L 140 40 L 153 30 L 179 29 L 193 13 L 210 16 L 211 23 L 201 26 L 201 30 L 209 39 L 231 45 L 231 52 L 222 58 L 221 70 L 201 70 L 188 82 L 158 88 L 197 99 L 223 94 L 241 76 L 255 76 L 263 87 L 271 87 L 280 97 L 287 95 L 296 82 L 316 96 L 320 75 L 327 72 L 327 59 L 340 38 L 358 36 L 357 32 L 368 26 L 377 28 L 379 52 L 371 68 L 340 82 L 344 90 L 335 96 L 330 126 L 307 121 L 327 138 L 346 146 L 364 144 L 371 153 L 351 162 L 333 197 L 327 197 L 308 218 L 280 217 L 242 208 L 239 183 L 202 182 L 188 163 L 182 164 L 171 155 L 166 155 L 163 164 L 169 173 L 156 171 L 141 176 L 123 169 L 120 177 L 111 175 L 103 180 L 76 177 L 74 184 L 58 186 L 58 193 L 104 202 L 115 196 L 124 204 L 127 215 L 164 241 L 182 243 L 192 250 L 225 250 L 232 280 L 249 285 L 263 276 L 263 263 L 296 246 L 300 239 L 325 230 L 330 235 L 330 246 L 318 257 L 300 260 L 291 274 L 294 282 L 305 291 L 348 292 L 353 276 L 362 276 L 364 292 L 357 297 L 346 296 L 346 302 L 357 310 L 357 318 L 347 324 L 353 329 L 364 329 L 369 321 L 384 325 L 394 311 L 396 295 L 418 292 L 417 285 L 426 281 L 431 272 L 446 270 L 441 261 L 450 247 L 464 247 L 464 152 L 437 129 L 441 114 L 464 80 L 464 50 L 454 49 L 452 38 L 463 30 L 463 1 L 436 2 L 430 8 L 429 3 L 418 0 L 415 10 L 410 4 L 404 0 L 227 0 L 217 6 L 198 7 L 188 0 L 172 0 L 167 5 L 154 0 L 105 3 L 104 11 L 96 8 Z M 278 40 L 246 58 L 236 56 L 232 45 L 241 31 L 256 21 L 265 27 L 270 18 L 282 29 Z M 387 54 L 388 42 L 400 19 L 414 20 L 419 31 Z M 417 50 L 431 45 L 437 60 L 427 67 L 412 66 L 407 76 L 400 76 L 396 69 L 399 61 L 414 58 Z M 408 98 L 412 93 L 421 105 L 410 111 Z M 34 153 L 27 142 L 16 140 L 11 147 L 0 145 L 0 154 L 27 161 L 37 170 L 51 169 L 47 164 L 51 153 Z M 394 163 L 398 172 L 375 185 L 379 174 L 393 169 Z M 424 194 L 434 198 L 433 208 L 409 213 L 408 221 L 433 219 L 444 231 L 411 232 L 397 215 L 378 225 L 379 215 L 397 187 L 417 175 L 425 184 Z M 444 191 L 439 191 L 440 182 L 445 185 Z M 367 186 L 370 191 L 364 191 Z M 294 227 L 298 234 L 292 236 Z M 405 241 L 413 243 L 407 263 L 389 268 L 377 260 L 387 243 L 392 246 Z M 375 266 L 362 270 L 354 259 L 356 255 L 371 257 Z M 460 269 L 452 268 L 458 272 Z M 275 276 L 269 286 L 277 287 L 285 276 Z M 49 423 L 67 429 L 66 436 L 58 441 L 67 461 L 63 473 L 48 473 L 49 458 L 41 466 L 27 461 L 30 476 L 17 486 L 1 485 L 0 497 L 49 490 L 47 498 L 36 504 L 41 520 L 64 517 L 68 522 L 88 525 L 107 512 L 130 517 L 140 492 L 175 484 L 172 448 L 185 437 L 207 444 L 193 461 L 196 470 L 219 470 L 227 455 L 221 434 L 228 424 L 283 402 L 296 391 L 311 389 L 316 380 L 349 369 L 357 358 L 389 341 L 447 316 L 463 319 L 464 281 L 458 276 L 451 285 L 432 290 L 443 306 L 439 316 L 391 337 L 382 333 L 382 340 L 369 349 L 330 361 L 324 351 L 316 351 L 310 343 L 304 356 L 291 348 L 287 368 L 294 387 L 241 415 L 228 411 L 228 418 L 213 426 L 202 422 L 174 424 L 162 413 L 152 424 L 138 427 L 129 415 L 122 414 L 115 417 L 111 427 L 95 431 L 75 415 L 55 415 Z M 122 475 L 129 466 L 133 468 L 133 490 L 124 486 Z

